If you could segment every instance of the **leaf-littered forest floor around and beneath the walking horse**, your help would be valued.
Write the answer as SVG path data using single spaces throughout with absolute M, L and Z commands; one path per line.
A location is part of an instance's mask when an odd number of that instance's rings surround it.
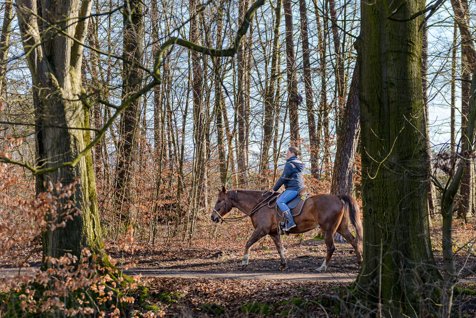
M 473 224 L 455 220 L 453 227 L 455 251 L 475 242 Z M 162 230 L 170 232 L 165 227 Z M 159 308 L 159 316 L 337 317 L 337 300 L 347 294 L 358 273 L 350 244 L 336 243 L 327 272 L 319 273 L 315 269 L 326 256 L 322 238 L 316 237 L 316 232 L 284 236 L 288 267 L 281 272 L 274 244 L 263 238 L 253 245 L 248 267 L 241 271 L 243 247 L 251 231 L 248 222 L 219 227 L 203 222 L 197 227 L 193 245 L 181 237 L 159 238 L 155 244 L 143 238 L 127 251 L 112 239 L 105 243 L 118 268 L 148 277 L 147 302 Z M 436 265 L 443 273 L 438 220 L 431 227 L 431 239 Z M 469 268 L 476 265 L 474 246 L 471 249 L 469 254 L 463 252 L 465 248 L 458 252 L 456 268 L 465 263 Z M 30 266 L 37 268 L 40 259 L 41 248 L 36 248 Z M 13 275 L 9 273 L 12 270 L 18 273 L 18 268 L 0 263 L 0 277 Z M 459 280 L 453 317 L 476 318 L 475 289 L 476 276 Z

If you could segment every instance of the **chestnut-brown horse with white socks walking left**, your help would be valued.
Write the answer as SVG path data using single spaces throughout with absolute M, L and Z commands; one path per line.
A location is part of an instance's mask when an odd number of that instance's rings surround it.
M 278 194 L 278 193 L 277 193 Z M 271 192 L 263 193 L 256 190 L 227 190 L 225 187 L 218 192 L 217 202 L 215 208 L 211 213 L 210 219 L 213 222 L 223 221 L 225 217 L 233 208 L 248 214 L 255 207 L 260 204 L 263 199 L 267 199 L 272 195 Z M 273 206 L 273 205 L 271 205 Z M 356 199 L 347 196 L 334 196 L 330 194 L 318 194 L 307 199 L 301 214 L 294 218 L 296 227 L 289 230 L 289 233 L 298 234 L 310 231 L 320 227 L 324 233 L 324 242 L 327 247 L 327 256 L 322 266 L 316 270 L 325 272 L 330 258 L 334 253 L 336 247 L 334 246 L 334 232 L 337 231 L 340 235 L 347 239 L 347 241 L 354 248 L 357 255 L 357 262 L 359 266 L 362 265 L 362 223 L 359 216 L 359 206 Z M 255 230 L 245 245 L 245 252 L 243 254 L 241 269 L 248 266 L 248 252 L 251 246 L 259 239 L 269 235 L 273 239 L 279 257 L 281 258 L 280 270 L 286 268 L 286 259 L 284 258 L 283 248 L 281 246 L 281 237 L 278 235 L 276 210 L 274 206 L 270 208 L 268 204 L 250 215 L 251 223 Z M 352 223 L 356 230 L 356 237 L 352 235 L 349 230 L 348 222 Z

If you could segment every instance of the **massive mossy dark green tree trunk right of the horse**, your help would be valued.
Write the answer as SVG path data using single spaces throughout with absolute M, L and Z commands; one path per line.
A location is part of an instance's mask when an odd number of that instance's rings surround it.
M 422 16 L 387 20 L 399 3 L 361 5 L 357 41 L 364 218 L 358 292 L 386 317 L 421 317 L 441 277 L 427 218 L 426 144 L 421 89 Z M 424 3 L 409 0 L 396 18 Z M 405 76 L 402 76 L 405 74 Z M 428 287 L 426 287 L 428 286 Z

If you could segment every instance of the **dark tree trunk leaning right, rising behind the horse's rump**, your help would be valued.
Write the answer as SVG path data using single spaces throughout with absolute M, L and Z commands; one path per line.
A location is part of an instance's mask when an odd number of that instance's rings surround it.
M 354 175 L 360 133 L 358 69 L 359 65 L 356 62 L 347 97 L 347 105 L 342 118 L 342 125 L 338 133 L 336 159 L 334 160 L 334 170 L 330 186 L 330 194 L 333 195 L 351 195 L 352 193 L 352 177 Z

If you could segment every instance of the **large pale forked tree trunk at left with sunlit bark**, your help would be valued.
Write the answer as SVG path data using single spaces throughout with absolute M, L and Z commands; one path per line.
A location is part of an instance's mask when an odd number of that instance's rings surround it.
M 33 0 L 18 0 L 17 5 L 17 8 L 28 8 L 17 10 L 17 15 L 33 84 L 37 165 L 52 168 L 72 161 L 90 142 L 89 110 L 81 102 L 83 47 L 71 40 L 84 42 L 89 19 L 76 23 L 71 20 L 89 16 L 91 2 L 84 1 L 81 5 L 79 1 L 51 2 L 50 7 L 44 6 L 42 10 L 38 10 L 37 1 Z M 68 19 L 65 19 L 65 12 L 68 12 Z M 37 16 L 47 21 L 62 21 L 57 26 L 68 33 L 69 38 L 40 36 L 42 30 Z M 104 253 L 91 152 L 82 156 L 74 167 L 52 170 L 37 175 L 37 194 L 47 191 L 51 183 L 61 182 L 68 186 L 79 179 L 80 186 L 76 187 L 70 200 L 82 213 L 74 215 L 64 227 L 54 230 L 49 227 L 43 233 L 43 269 L 50 267 L 48 257 L 60 258 L 66 252 L 79 259 L 83 248 L 89 248 L 93 255 Z M 60 203 L 65 200 L 59 199 Z M 53 219 L 52 214 L 46 217 L 56 225 L 63 221 L 62 217 Z

